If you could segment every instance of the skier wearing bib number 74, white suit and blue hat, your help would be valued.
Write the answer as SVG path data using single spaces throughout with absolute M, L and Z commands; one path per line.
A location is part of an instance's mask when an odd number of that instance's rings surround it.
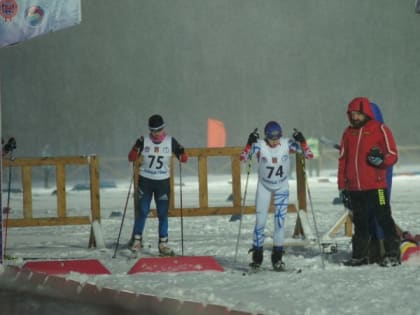
M 276 121 L 270 121 L 264 128 L 264 139 L 259 139 L 255 130 L 241 153 L 241 161 L 256 157 L 258 161 L 258 185 L 255 197 L 256 222 L 253 234 L 252 268 L 259 268 L 263 261 L 264 230 L 271 198 L 274 199 L 274 236 L 271 263 L 274 270 L 285 268 L 282 260 L 284 226 L 289 204 L 290 153 L 302 152 L 306 159 L 313 153 L 300 131 L 295 130 L 293 138 L 283 137 L 282 128 Z

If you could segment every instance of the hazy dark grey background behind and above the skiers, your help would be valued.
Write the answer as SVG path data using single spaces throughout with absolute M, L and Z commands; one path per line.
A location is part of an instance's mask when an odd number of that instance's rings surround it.
M 0 49 L 2 136 L 18 156 L 125 157 L 160 113 L 186 147 L 278 120 L 339 141 L 348 102 L 418 145 L 420 15 L 412 0 L 83 0 L 82 23 Z

